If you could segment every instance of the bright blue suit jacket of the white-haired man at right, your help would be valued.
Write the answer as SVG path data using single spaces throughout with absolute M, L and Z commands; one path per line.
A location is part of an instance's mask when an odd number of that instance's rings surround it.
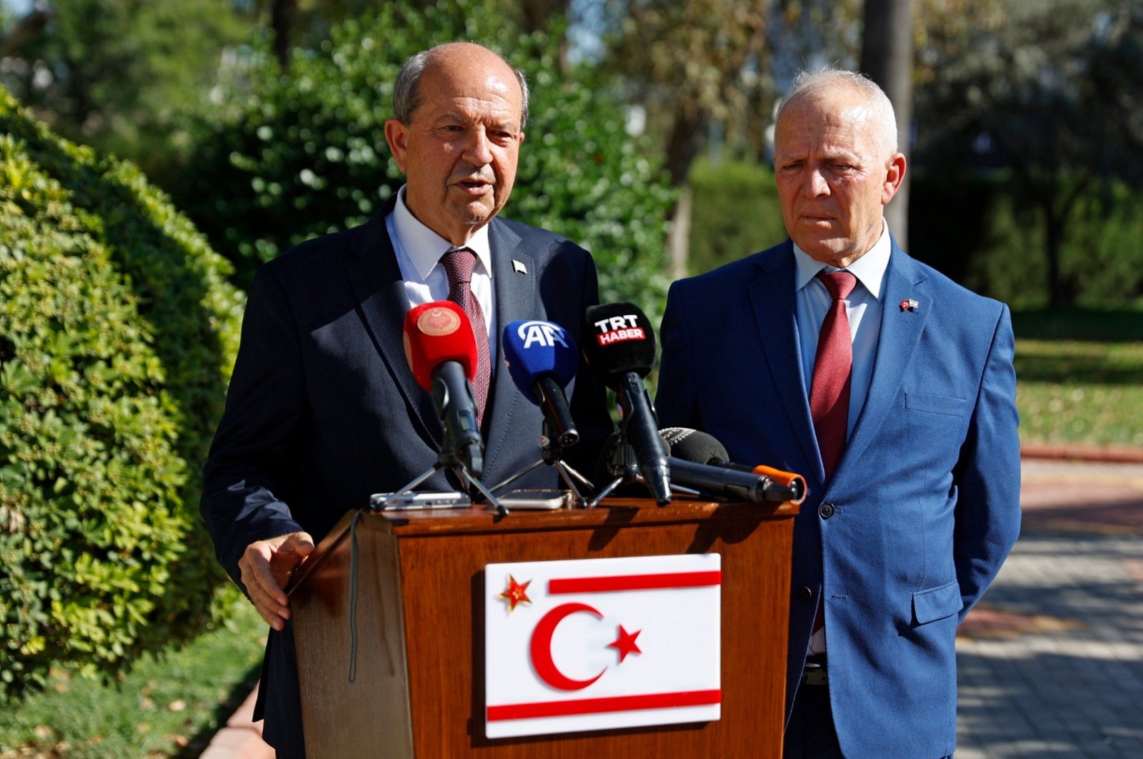
M 908 298 L 914 310 L 898 305 Z M 788 716 L 824 592 L 846 756 L 942 757 L 956 744 L 957 625 L 1020 530 L 1013 333 L 1007 306 L 895 242 L 881 303 L 869 396 L 830 481 L 801 376 L 789 240 L 672 285 L 656 408 L 663 426 L 703 430 L 733 461 L 806 477 Z

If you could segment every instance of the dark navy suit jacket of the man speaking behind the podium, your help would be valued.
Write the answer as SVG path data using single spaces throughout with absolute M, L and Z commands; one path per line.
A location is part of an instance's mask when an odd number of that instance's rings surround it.
M 250 543 L 295 530 L 320 541 L 347 510 L 368 505 L 370 494 L 395 490 L 437 461 L 441 425 L 405 358 L 408 297 L 384 221 L 392 206 L 367 224 L 288 250 L 256 275 L 201 502 L 218 560 L 235 582 Z M 501 327 L 543 319 L 578 343 L 584 309 L 598 302 L 591 256 L 499 218 L 490 222 L 489 243 Z M 543 420 L 497 362 L 482 429 L 481 480 L 489 486 L 539 460 Z M 604 389 L 581 366 L 568 396 L 582 434 L 569 449 L 581 458 L 569 463 L 591 471 L 612 429 Z M 553 468 L 541 466 L 518 486 L 550 488 L 557 480 Z M 451 489 L 440 472 L 421 487 Z M 289 633 L 271 632 L 259 706 L 267 741 L 301 756 Z

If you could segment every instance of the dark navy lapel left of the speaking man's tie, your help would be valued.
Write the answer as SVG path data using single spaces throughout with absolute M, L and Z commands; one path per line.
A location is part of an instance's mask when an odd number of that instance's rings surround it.
M 374 346 L 389 367 L 393 384 L 415 410 L 410 420 L 413 425 L 422 438 L 439 448 L 441 428 L 432 397 L 414 380 L 405 357 L 403 327 L 409 301 L 385 229 L 385 217 L 394 203 L 395 199 L 391 200 L 368 224 L 358 229 L 350 246 L 357 257 L 346 267 L 346 274 Z

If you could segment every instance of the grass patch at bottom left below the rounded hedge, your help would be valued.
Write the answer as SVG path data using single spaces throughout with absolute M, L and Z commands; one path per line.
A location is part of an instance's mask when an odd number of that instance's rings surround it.
M 0 759 L 198 757 L 257 680 L 265 630 L 242 600 L 227 626 L 117 684 L 56 671 L 46 692 L 0 708 Z

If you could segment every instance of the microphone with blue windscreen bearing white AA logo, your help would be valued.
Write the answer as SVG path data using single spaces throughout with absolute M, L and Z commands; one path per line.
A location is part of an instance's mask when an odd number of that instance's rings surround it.
M 580 442 L 563 392 L 580 367 L 567 330 L 550 321 L 513 321 L 504 326 L 501 350 L 512 382 L 543 410 L 550 438 L 563 448 Z

